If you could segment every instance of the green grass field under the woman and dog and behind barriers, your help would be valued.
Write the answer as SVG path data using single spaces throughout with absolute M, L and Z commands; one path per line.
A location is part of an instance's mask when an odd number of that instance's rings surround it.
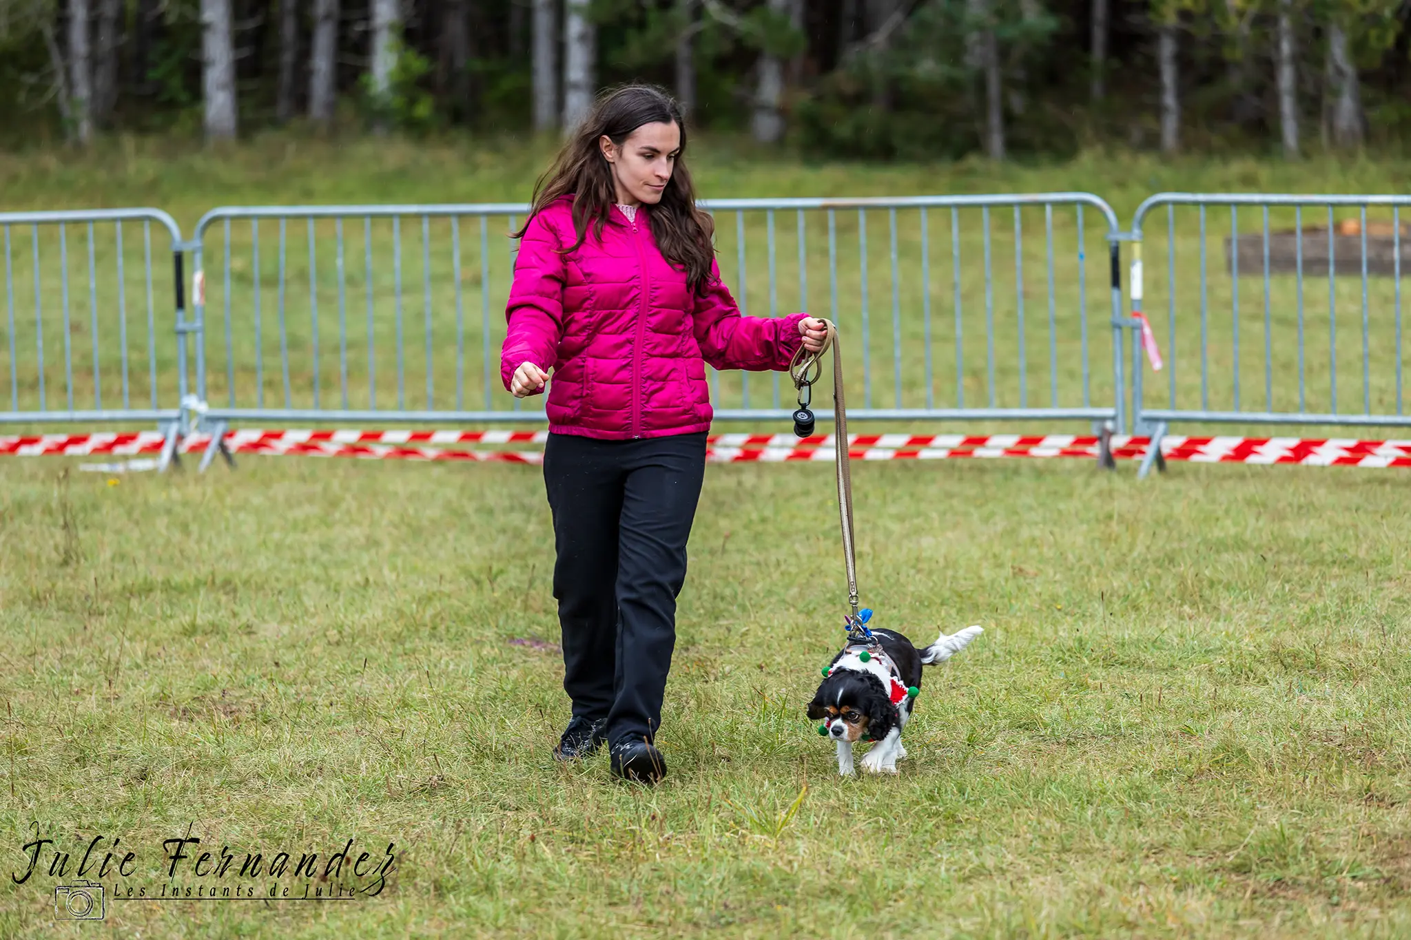
M 518 200 L 547 158 L 509 144 L 104 147 L 0 158 L 6 209 L 155 204 L 189 231 L 223 203 Z M 872 168 L 703 149 L 707 196 L 1086 189 L 1123 221 L 1161 189 L 1394 192 L 1404 180 L 1401 163 L 1377 161 Z M 1026 217 L 1026 233 L 1037 224 Z M 418 227 L 406 231 L 413 262 Z M 996 245 L 1002 271 L 1013 245 Z M 947 242 L 933 248 L 944 261 Z M 1163 251 L 1151 254 L 1157 290 Z M 734 258 L 722 256 L 727 276 Z M 1038 289 L 1029 393 L 1041 403 L 1038 264 L 1026 283 Z M 1098 268 L 1088 299 L 1101 324 Z M 873 393 L 886 404 L 879 272 Z M 1221 283 L 1212 309 L 1228 302 Z M 967 299 L 976 285 L 962 285 Z M 950 286 L 938 280 L 937 297 Z M 1386 314 L 1390 295 L 1373 296 Z M 1353 350 L 1359 302 L 1339 296 L 1353 304 L 1339 306 L 1355 311 Z M 1163 303 L 1147 306 L 1160 316 Z M 1247 303 L 1247 348 L 1260 350 L 1263 310 Z M 141 317 L 130 341 L 145 342 L 145 310 L 128 313 Z M 82 328 L 69 327 L 86 357 Z M 906 328 L 914 357 L 916 321 Z M 111 355 L 114 331 L 99 335 Z M 420 352 L 423 340 L 408 344 Z M 1095 362 L 1110 357 L 1102 348 Z M 212 350 L 224 389 L 223 347 Z M 1015 352 L 1002 345 L 1002 364 Z M 1191 347 L 1181 355 L 1191 362 Z M 1384 403 L 1391 359 L 1384 344 L 1377 355 Z M 1250 362 L 1257 404 L 1263 366 Z M 1012 395 L 1017 372 L 1002 364 Z M 1061 390 L 1079 395 L 1068 351 L 1058 365 Z M 985 395 L 983 366 L 967 393 Z M 138 402 L 145 368 L 134 357 Z M 955 375 L 937 373 L 937 396 L 952 393 Z M 1198 395 L 1198 378 L 1182 366 L 1178 390 Z M 56 381 L 49 393 L 62 396 Z M 409 373 L 413 403 L 423 381 Z M 1360 403 L 1356 369 L 1348 381 Z M 336 406 L 337 385 L 323 389 Z M 278 382 L 265 392 L 282 396 Z M 855 466 L 876 623 L 927 640 L 971 623 L 986 633 L 928 672 L 900 775 L 844 781 L 803 715 L 841 638 L 831 471 L 711 466 L 660 736 L 670 775 L 643 791 L 614 784 L 605 757 L 549 757 L 567 702 L 535 469 L 251 457 L 234 474 L 107 479 L 75 464 L 0 464 L 0 854 L 13 872 L 0 937 L 1411 936 L 1411 531 L 1398 472 L 1174 465 L 1139 485 L 1127 466 L 1077 461 Z M 72 924 L 52 906 L 72 868 L 51 877 L 45 855 L 14 884 L 37 833 L 72 862 L 95 836 L 107 839 L 99 853 L 113 837 L 133 847 L 131 877 L 102 879 L 110 891 L 159 889 L 162 841 L 188 833 L 202 850 L 229 846 L 237 865 L 247 851 L 327 861 L 347 839 L 374 862 L 395 843 L 396 860 L 375 898 L 124 899 L 107 926 Z M 212 884 L 186 865 L 175 884 Z

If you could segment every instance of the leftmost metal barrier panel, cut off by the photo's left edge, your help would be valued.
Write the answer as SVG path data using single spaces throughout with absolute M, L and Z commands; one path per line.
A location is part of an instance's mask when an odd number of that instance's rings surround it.
M 175 252 L 181 282 L 172 217 L 158 209 L 0 213 L 0 241 L 8 357 L 0 424 L 176 421 L 186 364 L 168 337 L 188 324 L 179 299 L 171 316 L 174 280 L 152 283 L 154 252 Z

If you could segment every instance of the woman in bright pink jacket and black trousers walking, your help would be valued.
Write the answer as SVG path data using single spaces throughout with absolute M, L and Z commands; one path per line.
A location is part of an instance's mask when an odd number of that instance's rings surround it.
M 803 313 L 739 316 L 684 149 L 680 109 L 660 90 L 598 100 L 516 233 L 501 352 L 516 397 L 549 385 L 543 478 L 573 700 L 555 757 L 605 740 L 612 772 L 641 782 L 666 772 L 653 741 L 706 471 L 706 364 L 787 369 L 825 335 Z

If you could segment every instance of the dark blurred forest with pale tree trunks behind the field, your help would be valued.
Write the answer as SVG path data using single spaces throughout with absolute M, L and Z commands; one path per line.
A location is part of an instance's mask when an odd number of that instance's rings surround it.
M 0 0 L 0 142 L 505 137 L 656 82 L 821 158 L 1397 149 L 1411 0 Z

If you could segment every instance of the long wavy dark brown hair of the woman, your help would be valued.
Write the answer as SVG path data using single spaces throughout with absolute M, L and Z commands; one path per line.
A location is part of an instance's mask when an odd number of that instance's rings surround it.
M 662 190 L 662 202 L 650 207 L 652 234 L 662 255 L 673 265 L 686 269 L 686 283 L 701 293 L 710 280 L 710 266 L 715 256 L 711 234 L 715 230 L 711 217 L 696 209 L 696 190 L 691 175 L 686 169 L 686 121 L 676 100 L 659 87 L 650 85 L 626 85 L 604 93 L 594 103 L 573 137 L 559 151 L 553 166 L 533 187 L 533 210 L 525 220 L 525 227 L 515 233 L 522 238 L 529 228 L 529 220 L 542 213 L 549 203 L 563 196 L 573 196 L 573 227 L 579 240 L 573 251 L 588 237 L 588 225 L 594 235 L 602 238 L 602 225 L 608 221 L 612 203 L 617 202 L 617 187 L 612 185 L 612 171 L 600 138 L 607 135 L 615 145 L 622 144 L 632 131 L 643 124 L 676 124 L 682 131 L 682 145 L 677 151 L 672 178 Z

